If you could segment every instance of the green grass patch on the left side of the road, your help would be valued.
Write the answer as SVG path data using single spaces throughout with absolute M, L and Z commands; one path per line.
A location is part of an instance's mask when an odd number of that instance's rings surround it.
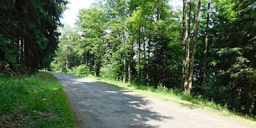
M 0 74 L 1 127 L 74 127 L 76 116 L 51 74 L 13 78 Z

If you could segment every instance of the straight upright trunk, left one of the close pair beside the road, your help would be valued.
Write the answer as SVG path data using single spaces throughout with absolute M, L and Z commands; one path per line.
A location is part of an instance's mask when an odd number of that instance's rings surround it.
M 188 0 L 185 0 L 185 35 L 184 35 L 184 91 L 188 90 Z

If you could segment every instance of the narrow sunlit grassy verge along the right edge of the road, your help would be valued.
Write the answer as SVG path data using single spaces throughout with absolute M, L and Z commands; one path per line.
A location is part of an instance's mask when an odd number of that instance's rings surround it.
M 246 116 L 234 111 L 230 111 L 220 104 L 211 102 L 202 97 L 191 97 L 183 95 L 180 90 L 168 90 L 166 88 L 153 88 L 152 86 L 143 86 L 136 83 L 123 83 L 121 81 L 115 81 L 110 79 L 104 79 L 101 77 L 87 76 L 84 77 L 88 81 L 106 84 L 108 86 L 113 86 L 121 90 L 128 90 L 131 92 L 136 92 L 140 95 L 145 95 L 148 97 L 153 97 L 156 99 L 166 100 L 180 106 L 185 106 L 190 109 L 197 109 L 210 113 L 211 115 L 220 115 L 231 120 L 236 120 L 238 122 L 244 122 L 256 127 L 256 118 L 252 116 Z

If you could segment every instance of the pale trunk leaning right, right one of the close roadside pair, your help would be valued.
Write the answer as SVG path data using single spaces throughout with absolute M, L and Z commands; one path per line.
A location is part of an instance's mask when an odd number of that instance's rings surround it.
M 194 5 L 195 5 L 195 2 L 194 2 Z M 189 84 L 188 84 L 188 89 L 185 92 L 186 95 L 190 95 L 191 88 L 192 88 L 195 53 L 196 53 L 196 43 L 197 43 L 198 26 L 199 26 L 199 20 L 200 20 L 200 7 L 201 7 L 201 0 L 198 1 L 197 19 L 196 19 L 196 22 L 194 22 L 194 29 L 195 30 L 194 30 L 194 35 L 193 35 L 194 36 L 193 37 L 193 49 L 192 49 L 191 62 L 190 62 L 190 68 L 189 68 L 189 80 L 188 80 Z

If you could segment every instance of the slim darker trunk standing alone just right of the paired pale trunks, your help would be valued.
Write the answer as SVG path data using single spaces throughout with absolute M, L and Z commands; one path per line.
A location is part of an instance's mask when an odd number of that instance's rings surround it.
M 203 84 L 205 86 L 205 78 L 206 78 L 206 63 L 207 63 L 207 49 L 208 49 L 208 31 L 209 31 L 209 17 L 210 17 L 210 1 L 208 1 L 207 8 L 207 25 L 206 25 L 206 33 L 205 33 L 205 45 L 204 45 L 204 72 L 203 72 Z

